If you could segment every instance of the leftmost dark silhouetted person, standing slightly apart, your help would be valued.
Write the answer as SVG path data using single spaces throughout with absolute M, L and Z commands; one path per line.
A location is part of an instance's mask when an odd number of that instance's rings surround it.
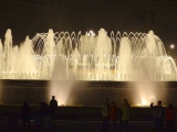
M 23 119 L 23 129 L 25 129 L 25 123 L 28 123 L 28 127 L 30 129 L 31 128 L 31 125 L 30 125 L 31 108 L 27 101 L 23 102 L 23 106 L 21 107 L 21 112 L 22 112 L 22 119 Z

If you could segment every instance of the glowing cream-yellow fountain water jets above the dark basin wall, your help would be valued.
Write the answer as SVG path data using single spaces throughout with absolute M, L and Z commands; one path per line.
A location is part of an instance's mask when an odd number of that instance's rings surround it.
M 135 81 L 145 75 L 155 81 L 177 79 L 175 61 L 153 31 L 107 36 L 101 29 L 96 36 L 49 30 L 32 40 L 27 36 L 18 47 L 8 30 L 0 51 L 2 79 Z

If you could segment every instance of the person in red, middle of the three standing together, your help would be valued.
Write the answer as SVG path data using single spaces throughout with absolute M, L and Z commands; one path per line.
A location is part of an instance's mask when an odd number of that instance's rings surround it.
M 112 101 L 110 106 L 110 120 L 112 122 L 112 130 L 116 129 L 116 119 L 117 119 L 117 106 L 114 101 Z

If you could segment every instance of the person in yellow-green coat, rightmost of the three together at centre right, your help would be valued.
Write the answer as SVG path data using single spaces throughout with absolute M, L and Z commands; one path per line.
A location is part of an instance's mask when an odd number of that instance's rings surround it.
M 123 121 L 123 131 L 128 131 L 128 121 L 131 114 L 131 105 L 127 99 L 124 99 L 124 105 L 122 106 L 122 121 Z

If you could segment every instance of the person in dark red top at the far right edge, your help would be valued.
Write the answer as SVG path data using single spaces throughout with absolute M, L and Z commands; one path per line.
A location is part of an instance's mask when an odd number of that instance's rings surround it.
M 174 132 L 174 120 L 175 120 L 175 107 L 173 103 L 169 103 L 165 112 L 167 119 L 167 132 Z

